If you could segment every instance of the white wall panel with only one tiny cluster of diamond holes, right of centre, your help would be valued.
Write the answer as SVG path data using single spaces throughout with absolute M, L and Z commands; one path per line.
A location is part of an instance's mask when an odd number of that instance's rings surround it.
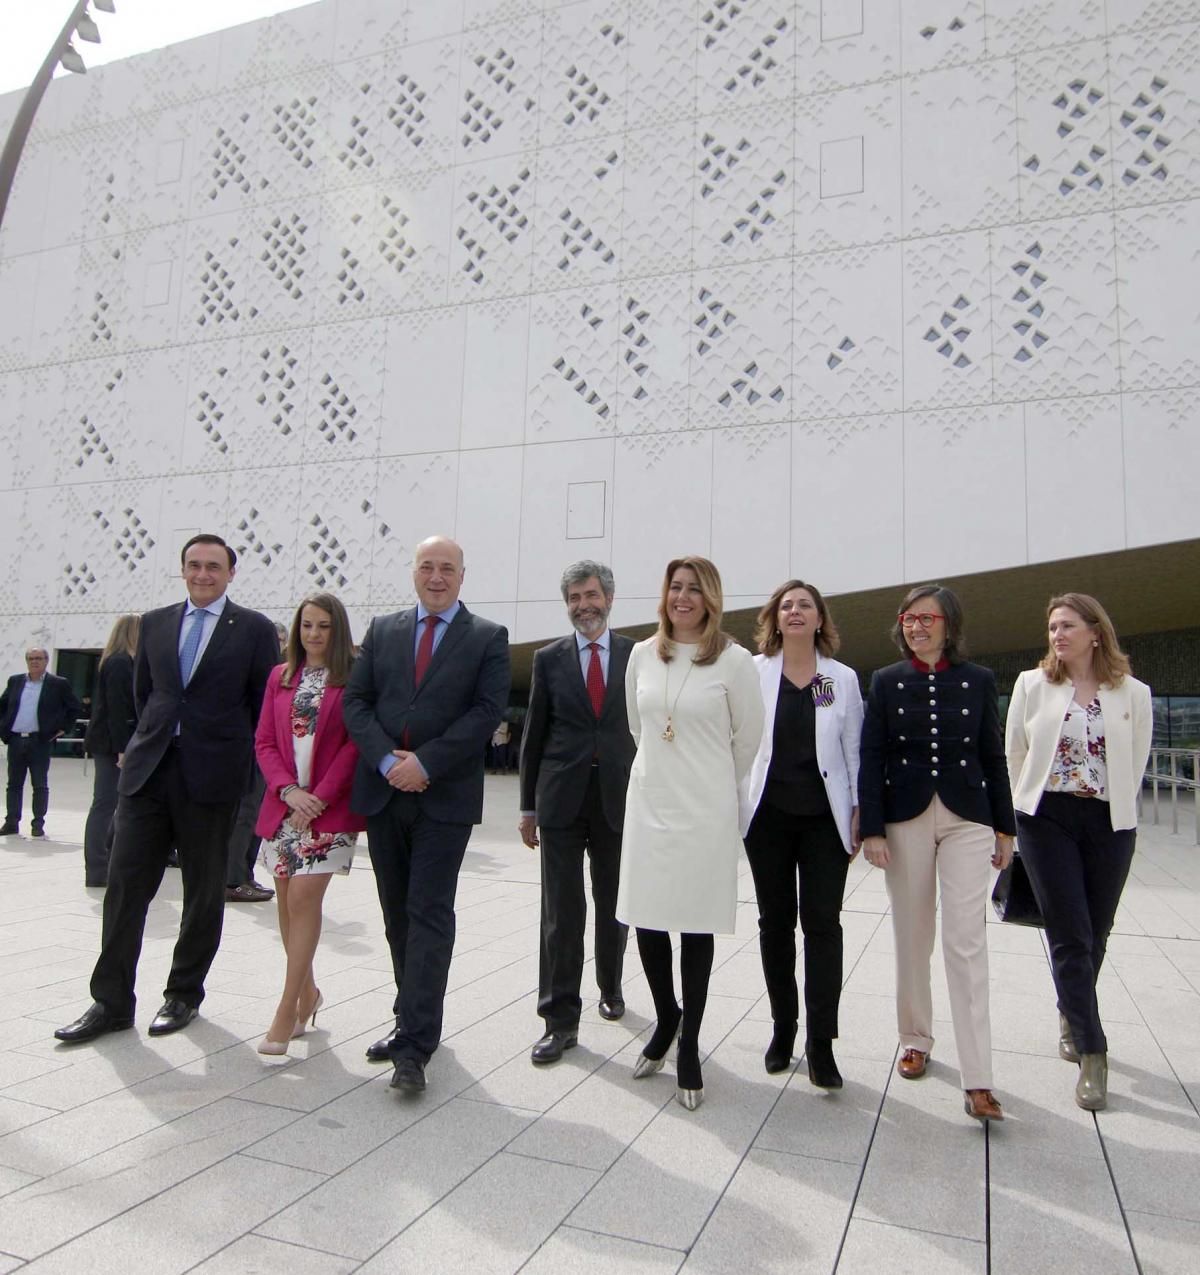
M 796 258 L 796 416 L 899 412 L 899 244 Z

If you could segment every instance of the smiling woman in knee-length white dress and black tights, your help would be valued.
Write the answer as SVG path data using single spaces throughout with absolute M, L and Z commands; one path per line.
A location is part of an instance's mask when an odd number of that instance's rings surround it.
M 658 1021 L 634 1076 L 662 1068 L 678 1037 L 676 1098 L 704 1099 L 700 1023 L 713 935 L 737 912 L 737 785 L 763 733 L 763 697 L 750 653 L 721 631 L 721 576 L 708 558 L 667 565 L 658 632 L 639 643 L 625 674 L 638 743 L 625 805 L 617 918 L 638 929 Z M 682 1007 L 668 931 L 680 932 Z

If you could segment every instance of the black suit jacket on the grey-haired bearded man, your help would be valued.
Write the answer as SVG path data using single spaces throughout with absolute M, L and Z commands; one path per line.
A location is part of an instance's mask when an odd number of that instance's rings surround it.
M 520 746 L 520 808 L 537 811 L 541 827 L 565 827 L 583 807 L 598 762 L 604 819 L 620 831 L 625 790 L 638 751 L 625 709 L 625 669 L 633 639 L 610 632 L 608 682 L 597 718 L 588 699 L 575 635 L 533 657 L 529 711 Z

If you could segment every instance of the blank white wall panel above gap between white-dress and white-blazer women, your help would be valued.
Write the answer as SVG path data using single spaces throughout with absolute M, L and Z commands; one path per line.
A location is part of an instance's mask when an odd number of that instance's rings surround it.
M 713 431 L 712 557 L 729 592 L 765 598 L 787 579 L 791 455 L 787 425 Z

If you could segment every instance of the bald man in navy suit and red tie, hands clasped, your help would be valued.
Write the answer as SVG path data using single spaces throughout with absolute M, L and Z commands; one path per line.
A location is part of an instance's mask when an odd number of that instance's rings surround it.
M 483 759 L 509 699 L 509 634 L 459 601 L 463 551 L 417 546 L 417 606 L 371 621 L 343 696 L 361 754 L 351 798 L 391 950 L 395 1030 L 367 1049 L 391 1086 L 425 1089 L 441 1040 L 454 952 L 454 895 L 472 825 L 483 819 Z

